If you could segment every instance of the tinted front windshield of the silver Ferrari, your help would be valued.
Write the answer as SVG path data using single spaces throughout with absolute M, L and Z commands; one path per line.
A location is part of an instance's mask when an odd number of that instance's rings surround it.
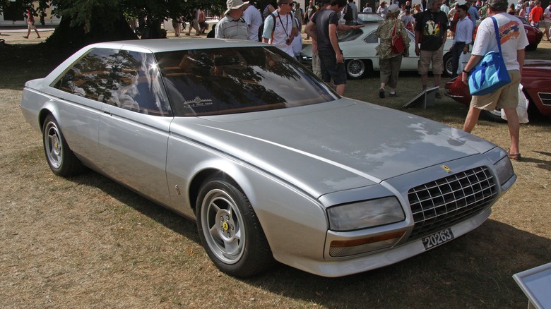
M 283 109 L 338 97 L 275 47 L 197 49 L 155 57 L 174 116 Z

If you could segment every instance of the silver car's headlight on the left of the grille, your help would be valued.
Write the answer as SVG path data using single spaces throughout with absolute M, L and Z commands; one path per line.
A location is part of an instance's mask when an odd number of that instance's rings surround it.
M 393 196 L 338 205 L 328 208 L 327 213 L 333 231 L 365 229 L 405 219 L 400 202 Z

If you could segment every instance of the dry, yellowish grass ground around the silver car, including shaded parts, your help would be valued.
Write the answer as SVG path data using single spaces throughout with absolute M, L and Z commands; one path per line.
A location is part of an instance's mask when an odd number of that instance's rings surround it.
M 521 127 L 526 159 L 514 162 L 519 180 L 494 205 L 490 220 L 446 246 L 338 279 L 284 265 L 251 279 L 227 277 L 203 252 L 194 222 L 93 172 L 66 179 L 49 171 L 40 133 L 25 123 L 18 104 L 23 82 L 44 75 L 59 59 L 50 60 L 47 51 L 31 53 L 32 59 L 25 54 L 30 48 L 6 53 L 0 47 L 1 307 L 526 308 L 511 275 L 550 262 L 546 120 Z M 400 108 L 420 80 L 403 76 L 402 97 L 384 100 L 377 97 L 378 83 L 377 75 L 350 81 L 347 95 Z M 466 107 L 451 99 L 408 111 L 458 128 L 466 115 Z M 504 123 L 481 121 L 473 133 L 509 144 Z

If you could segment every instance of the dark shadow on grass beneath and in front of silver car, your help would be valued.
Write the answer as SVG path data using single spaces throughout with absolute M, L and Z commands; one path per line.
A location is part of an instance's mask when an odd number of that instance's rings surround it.
M 109 178 L 90 171 L 71 181 L 99 188 L 201 243 L 194 222 Z M 523 308 L 526 297 L 511 276 L 549 262 L 550 256 L 549 239 L 490 219 L 451 243 L 370 272 L 324 278 L 277 265 L 265 274 L 239 280 L 275 295 L 327 308 Z

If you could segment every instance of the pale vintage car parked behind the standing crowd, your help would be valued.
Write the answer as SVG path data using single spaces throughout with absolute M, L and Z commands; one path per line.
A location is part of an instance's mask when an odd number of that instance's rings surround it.
M 338 44 L 343 50 L 346 73 L 349 78 L 363 78 L 371 71 L 379 71 L 379 56 L 375 47 L 379 37 L 375 35 L 379 23 L 366 23 L 363 28 L 338 33 Z M 417 71 L 419 56 L 415 55 L 415 34 L 408 31 L 410 54 L 402 59 L 401 71 Z M 444 75 L 451 76 L 451 39 L 444 44 Z M 302 49 L 301 62 L 308 66 L 312 63 L 312 45 Z M 311 64 L 310 64 L 311 65 Z

